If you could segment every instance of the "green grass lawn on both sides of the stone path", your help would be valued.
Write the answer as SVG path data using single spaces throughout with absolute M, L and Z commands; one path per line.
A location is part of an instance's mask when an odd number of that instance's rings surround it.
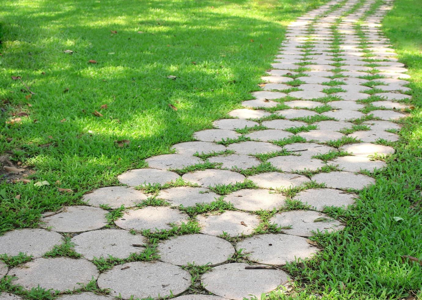
M 42 212 L 118 185 L 120 173 L 170 153 L 171 145 L 192 140 L 194 131 L 239 108 L 270 67 L 284 25 L 322 3 L 4 0 L 0 154 L 33 169 L 28 179 L 50 185 L 0 183 L 0 234 L 36 227 Z M 325 250 L 287 265 L 297 279 L 292 294 L 271 299 L 421 296 L 421 266 L 400 256 L 422 259 L 422 7 L 419 0 L 394 5 L 383 30 L 412 76 L 415 106 L 394 144 L 397 153 L 354 208 L 327 211 L 346 229 L 313 238 Z M 74 52 L 63 53 L 67 49 Z M 28 116 L 11 122 L 19 113 Z M 118 147 L 122 139 L 130 145 Z M 57 180 L 74 193 L 60 193 Z M 7 288 L 0 282 L 0 291 Z

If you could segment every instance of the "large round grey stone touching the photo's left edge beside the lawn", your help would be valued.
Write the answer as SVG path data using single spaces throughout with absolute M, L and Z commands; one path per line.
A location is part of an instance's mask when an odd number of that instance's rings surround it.
M 17 229 L 0 236 L 0 255 L 16 256 L 22 252 L 37 258 L 50 251 L 54 245 L 60 245 L 62 242 L 62 235 L 54 231 Z

